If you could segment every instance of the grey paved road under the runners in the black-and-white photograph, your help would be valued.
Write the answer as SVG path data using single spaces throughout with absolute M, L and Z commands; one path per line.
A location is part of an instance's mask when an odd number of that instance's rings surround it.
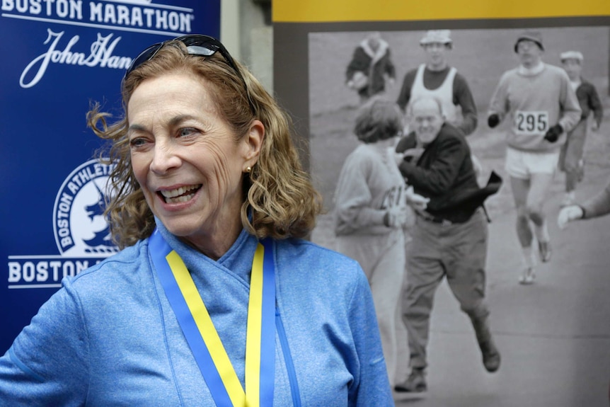
M 607 176 L 597 173 L 579 195 L 592 196 Z M 432 311 L 429 391 L 415 400 L 396 396 L 396 406 L 609 406 L 610 216 L 559 231 L 561 180 L 546 204 L 553 258 L 539 266 L 536 284 L 517 284 L 514 211 L 495 215 L 490 224 L 488 300 L 500 370 L 485 372 L 468 318 L 443 282 Z M 398 372 L 405 374 L 404 348 L 401 360 Z

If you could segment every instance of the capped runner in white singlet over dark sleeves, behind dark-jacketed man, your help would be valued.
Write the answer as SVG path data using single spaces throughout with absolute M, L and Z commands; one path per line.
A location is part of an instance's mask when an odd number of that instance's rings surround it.
M 442 101 L 446 120 L 465 136 L 471 134 L 477 125 L 476 105 L 464 76 L 447 62 L 447 54 L 453 47 L 451 31 L 429 30 L 420 45 L 425 51 L 426 62 L 405 74 L 396 103 L 405 111 L 409 101 L 420 96 L 434 96 Z M 461 108 L 461 120 L 456 106 Z

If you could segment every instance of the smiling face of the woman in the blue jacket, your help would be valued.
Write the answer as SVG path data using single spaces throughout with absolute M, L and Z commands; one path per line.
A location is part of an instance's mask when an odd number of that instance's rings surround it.
M 204 253 L 214 241 L 230 246 L 241 231 L 243 173 L 258 159 L 263 125 L 254 120 L 236 142 L 205 81 L 186 73 L 142 82 L 127 119 L 134 175 L 155 216 Z

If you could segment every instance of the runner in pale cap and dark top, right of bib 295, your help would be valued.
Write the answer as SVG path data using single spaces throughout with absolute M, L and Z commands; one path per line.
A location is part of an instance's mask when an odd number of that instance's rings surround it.
M 576 91 L 576 97 L 582 110 L 580 121 L 568 133 L 568 138 L 561 148 L 559 158 L 559 168 L 565 172 L 565 197 L 561 202 L 561 206 L 565 207 L 573 205 L 576 202 L 576 184 L 584 176 L 585 161 L 582 154 L 585 149 L 585 140 L 587 139 L 589 115 L 592 114 L 593 116 L 591 130 L 596 131 L 599 125 L 602 124 L 604 106 L 599 101 L 599 95 L 595 90 L 595 86 L 582 78 L 582 60 L 584 59 L 582 52 L 562 52 L 560 59 L 563 69 L 565 69 L 568 78 L 570 78 L 570 85 Z

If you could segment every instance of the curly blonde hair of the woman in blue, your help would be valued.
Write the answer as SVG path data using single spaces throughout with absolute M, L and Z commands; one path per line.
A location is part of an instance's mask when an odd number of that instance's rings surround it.
M 171 72 L 205 78 L 217 111 L 234 130 L 236 141 L 246 135 L 252 120 L 260 120 L 265 127 L 258 162 L 244 174 L 243 227 L 259 239 L 304 238 L 313 230 L 322 200 L 301 166 L 292 141 L 292 121 L 250 71 L 239 62 L 235 64 L 243 81 L 219 53 L 194 57 L 182 42 L 170 41 L 123 80 L 124 115 L 120 120 L 109 123 L 111 115 L 102 112 L 99 103 L 87 113 L 88 126 L 110 144 L 100 151 L 99 159 L 113 166 L 108 181 L 113 192 L 105 214 L 120 248 L 149 237 L 155 227 L 154 215 L 132 171 L 127 105 L 142 81 Z

